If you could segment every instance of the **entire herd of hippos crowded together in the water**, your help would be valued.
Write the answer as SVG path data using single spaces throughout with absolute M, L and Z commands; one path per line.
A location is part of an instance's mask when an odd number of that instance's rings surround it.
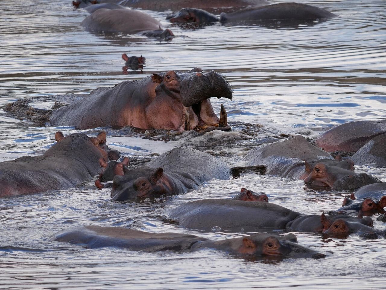
M 100 2 L 100 3 L 99 3 Z M 108 3 L 103 3 L 108 2 Z M 111 3 L 114 2 L 114 3 Z M 196 0 L 195 7 L 237 10 L 218 19 L 204 10 L 191 8 L 187 0 L 78 0 L 73 4 L 92 13 L 83 22 L 86 29 L 147 36 L 169 37 L 151 16 L 124 8 L 178 10 L 171 22 L 238 22 L 271 19 L 326 19 L 335 15 L 326 10 L 297 3 L 269 5 L 265 0 Z M 217 10 L 218 11 L 218 10 Z M 225 10 L 225 11 L 229 11 Z M 129 59 L 126 55 L 124 58 Z M 107 126 L 133 126 L 140 129 L 165 129 L 178 132 L 231 130 L 227 112 L 221 105 L 220 117 L 213 112 L 210 98 L 232 99 L 232 88 L 225 77 L 194 68 L 187 73 L 168 71 L 142 80 L 124 81 L 112 88 L 97 88 L 90 95 L 52 110 L 35 109 L 24 101 L 7 104 L 3 109 L 31 121 L 51 126 L 90 129 Z M 19 114 L 24 111 L 24 114 Z M 28 112 L 28 114 L 27 114 Z M 0 197 L 66 190 L 98 176 L 98 188 L 111 187 L 113 201 L 137 202 L 144 198 L 176 195 L 197 189 L 217 178 L 229 180 L 240 171 L 277 175 L 304 180 L 309 187 L 350 190 L 340 209 L 322 215 L 301 214 L 268 202 L 265 194 L 245 188 L 232 199 L 206 199 L 188 202 L 168 211 L 168 218 L 180 227 L 210 231 L 213 227 L 232 231 L 280 229 L 345 237 L 385 237 L 374 229 L 369 215 L 386 207 L 386 183 L 367 173 L 357 173 L 356 165 L 386 167 L 386 120 L 362 120 L 338 125 L 311 144 L 302 136 L 261 145 L 242 159 L 245 167 L 230 167 L 220 158 L 190 148 L 174 148 L 146 166 L 129 169 L 129 158 L 120 156 L 106 144 L 106 133 L 88 137 L 82 133 L 55 134 L 56 144 L 41 156 L 23 156 L 0 163 Z M 330 153 L 334 153 L 334 157 Z M 343 159 L 337 152 L 344 156 Z M 354 154 L 353 154 L 354 153 Z M 101 173 L 102 172 L 102 173 Z M 112 182 L 111 182 L 112 181 Z M 365 217 L 364 217 L 365 216 Z M 380 215 L 380 220 L 384 215 Z M 195 251 L 215 248 L 228 253 L 293 258 L 323 258 L 325 254 L 301 246 L 296 236 L 254 234 L 240 238 L 211 241 L 166 232 L 155 234 L 122 227 L 85 226 L 55 234 L 51 240 L 78 243 L 90 248 L 125 247 L 133 251 Z

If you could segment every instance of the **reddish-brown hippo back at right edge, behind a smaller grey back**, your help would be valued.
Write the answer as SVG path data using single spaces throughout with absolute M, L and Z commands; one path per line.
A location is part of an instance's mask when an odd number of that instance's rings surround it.
M 356 152 L 372 138 L 384 133 L 386 133 L 386 119 L 349 122 L 324 132 L 315 141 L 315 145 L 328 152 Z

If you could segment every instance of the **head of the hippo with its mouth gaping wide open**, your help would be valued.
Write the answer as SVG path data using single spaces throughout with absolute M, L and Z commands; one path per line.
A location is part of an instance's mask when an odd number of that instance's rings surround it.
M 215 71 L 202 73 L 201 69 L 194 68 L 188 73 L 168 71 L 153 74 L 152 81 L 159 84 L 155 88 L 156 99 L 172 98 L 178 109 L 181 108 L 181 115 L 173 120 L 173 124 L 178 124 L 174 130 L 230 130 L 223 105 L 219 119 L 209 100 L 212 97 L 232 99 L 232 89 L 222 75 Z

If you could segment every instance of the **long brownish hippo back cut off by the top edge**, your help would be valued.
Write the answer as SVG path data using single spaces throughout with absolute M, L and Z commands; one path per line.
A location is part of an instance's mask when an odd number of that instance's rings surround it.
M 120 2 L 120 5 L 141 8 L 144 10 L 179 10 L 182 8 L 201 8 L 205 10 L 213 10 L 214 8 L 231 9 L 234 11 L 240 7 L 247 6 L 262 6 L 268 5 L 266 0 L 124 0 Z

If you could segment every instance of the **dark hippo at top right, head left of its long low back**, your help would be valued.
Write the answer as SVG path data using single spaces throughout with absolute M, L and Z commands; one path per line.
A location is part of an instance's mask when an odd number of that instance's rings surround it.
M 300 3 L 278 3 L 263 7 L 251 7 L 233 13 L 221 13 L 220 19 L 205 10 L 183 8 L 179 12 L 169 15 L 166 19 L 172 23 L 209 24 L 220 21 L 222 23 L 259 23 L 271 20 L 322 20 L 337 15 L 325 9 Z

